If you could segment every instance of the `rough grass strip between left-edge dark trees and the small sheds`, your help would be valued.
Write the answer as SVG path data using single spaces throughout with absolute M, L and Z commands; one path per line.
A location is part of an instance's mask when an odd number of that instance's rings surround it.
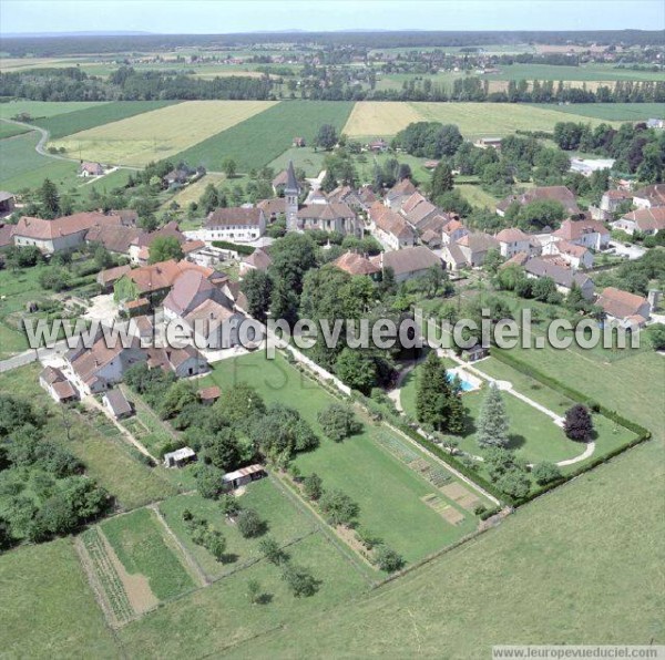
M 124 441 L 104 436 L 100 430 L 74 411 L 53 403 L 39 385 L 41 365 L 33 363 L 0 374 L 0 390 L 31 400 L 49 412 L 45 437 L 65 445 L 84 464 L 85 472 L 98 479 L 120 506 L 131 509 L 150 502 L 175 495 L 172 486 L 157 470 L 151 470 L 134 458 Z M 70 437 L 66 437 L 66 422 Z

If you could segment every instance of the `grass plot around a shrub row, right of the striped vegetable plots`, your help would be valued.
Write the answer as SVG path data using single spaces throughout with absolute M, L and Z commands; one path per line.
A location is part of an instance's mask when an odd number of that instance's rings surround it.
M 253 508 L 267 523 L 266 534 L 280 545 L 290 543 L 315 528 L 315 518 L 297 509 L 278 487 L 267 478 L 249 484 L 238 498 L 243 508 Z M 222 532 L 226 538 L 226 558 L 223 563 L 202 546 L 192 542 L 190 532 L 183 524 L 183 511 L 205 518 L 214 529 Z M 175 532 L 180 540 L 196 558 L 205 574 L 217 577 L 237 570 L 246 561 L 263 557 L 258 549 L 258 538 L 243 538 L 235 524 L 226 520 L 219 504 L 204 499 L 197 494 L 171 497 L 160 504 L 160 511 L 166 523 Z

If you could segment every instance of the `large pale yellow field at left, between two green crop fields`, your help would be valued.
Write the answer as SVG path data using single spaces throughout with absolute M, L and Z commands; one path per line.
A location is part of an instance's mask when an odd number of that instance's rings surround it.
M 53 142 L 83 161 L 142 167 L 267 110 L 276 101 L 186 101 Z M 193 166 L 196 163 L 192 163 Z

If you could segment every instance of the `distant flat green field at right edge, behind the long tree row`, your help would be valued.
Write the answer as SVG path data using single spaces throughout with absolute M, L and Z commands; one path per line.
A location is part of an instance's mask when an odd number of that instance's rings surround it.
M 488 73 L 488 80 L 570 80 L 570 81 L 617 81 L 617 80 L 665 80 L 662 71 L 631 71 L 616 69 L 612 64 L 584 64 L 580 66 L 555 66 L 550 64 L 505 64 L 500 73 Z

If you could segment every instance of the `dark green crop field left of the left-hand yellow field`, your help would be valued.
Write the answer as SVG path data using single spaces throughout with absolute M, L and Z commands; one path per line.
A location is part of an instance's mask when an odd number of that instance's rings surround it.
M 114 103 L 98 103 L 91 107 L 45 117 L 34 123 L 45 128 L 51 140 L 57 140 L 72 133 L 88 131 L 110 122 L 119 122 L 176 103 L 177 101 L 115 101 Z

